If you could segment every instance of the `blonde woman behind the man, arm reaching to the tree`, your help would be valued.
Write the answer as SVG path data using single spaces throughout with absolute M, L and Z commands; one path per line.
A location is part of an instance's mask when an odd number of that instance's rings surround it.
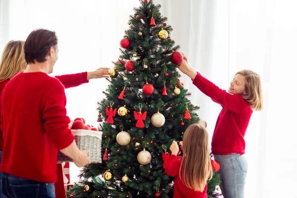
M 24 54 L 24 41 L 9 41 L 5 46 L 0 62 L 0 96 L 5 85 L 12 79 L 14 76 L 24 71 L 27 67 Z M 104 78 L 108 77 L 109 68 L 101 67 L 92 72 L 82 72 L 77 74 L 55 76 L 59 81 L 64 85 L 65 88 L 76 87 L 84 83 L 88 83 L 89 80 L 95 78 Z M 0 108 L 1 110 L 1 108 Z M 1 124 L 1 123 L 0 123 Z M 3 150 L 3 137 L 2 131 L 0 129 L 0 163 Z M 60 164 L 59 164 L 60 165 Z M 62 168 L 61 166 L 58 166 Z M 0 180 L 1 180 L 0 174 Z M 56 193 L 59 191 L 64 191 L 64 186 L 56 187 Z M 65 194 L 65 193 L 64 193 Z M 0 185 L 0 198 L 6 198 L 2 194 L 2 187 Z

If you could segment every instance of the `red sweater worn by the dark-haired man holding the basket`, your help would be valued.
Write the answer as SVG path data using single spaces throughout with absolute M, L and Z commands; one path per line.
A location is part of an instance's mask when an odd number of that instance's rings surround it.
M 72 86 L 86 82 L 86 75 L 70 75 L 76 82 Z M 77 83 L 79 77 L 82 81 Z M 70 81 L 65 83 L 67 87 L 72 87 Z M 20 73 L 7 83 L 1 95 L 1 172 L 40 182 L 56 181 L 57 152 L 74 140 L 65 105 L 63 85 L 43 72 Z

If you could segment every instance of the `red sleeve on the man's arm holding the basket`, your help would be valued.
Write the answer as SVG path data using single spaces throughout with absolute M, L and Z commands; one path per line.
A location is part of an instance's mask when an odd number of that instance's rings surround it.
M 63 86 L 57 82 L 43 99 L 44 129 L 57 149 L 68 147 L 74 140 L 68 129 L 69 117 L 66 115 L 66 97 Z

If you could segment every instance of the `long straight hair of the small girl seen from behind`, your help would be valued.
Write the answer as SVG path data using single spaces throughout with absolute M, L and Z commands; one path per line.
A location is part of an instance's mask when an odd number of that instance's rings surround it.
M 207 179 L 212 178 L 208 133 L 200 124 L 190 125 L 183 138 L 183 159 L 179 175 L 184 184 L 203 192 Z

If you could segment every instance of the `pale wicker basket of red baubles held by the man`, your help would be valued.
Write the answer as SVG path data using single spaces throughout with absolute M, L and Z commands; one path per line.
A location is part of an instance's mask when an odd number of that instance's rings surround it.
M 75 137 L 75 142 L 80 150 L 90 150 L 89 158 L 92 163 L 102 163 L 101 161 L 101 141 L 102 132 L 92 130 L 71 130 Z M 58 163 L 73 162 L 73 160 L 60 151 L 58 152 Z

